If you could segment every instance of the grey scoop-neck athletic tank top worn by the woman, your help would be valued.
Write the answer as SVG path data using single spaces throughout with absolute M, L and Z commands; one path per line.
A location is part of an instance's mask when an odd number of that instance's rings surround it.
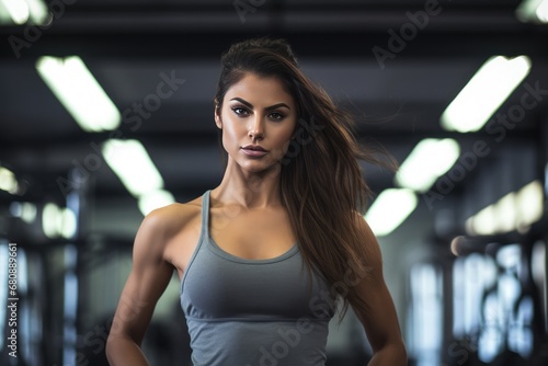
M 317 272 L 310 283 L 297 244 L 266 260 L 224 251 L 209 236 L 209 193 L 181 282 L 194 366 L 323 366 L 334 312 L 328 284 Z

